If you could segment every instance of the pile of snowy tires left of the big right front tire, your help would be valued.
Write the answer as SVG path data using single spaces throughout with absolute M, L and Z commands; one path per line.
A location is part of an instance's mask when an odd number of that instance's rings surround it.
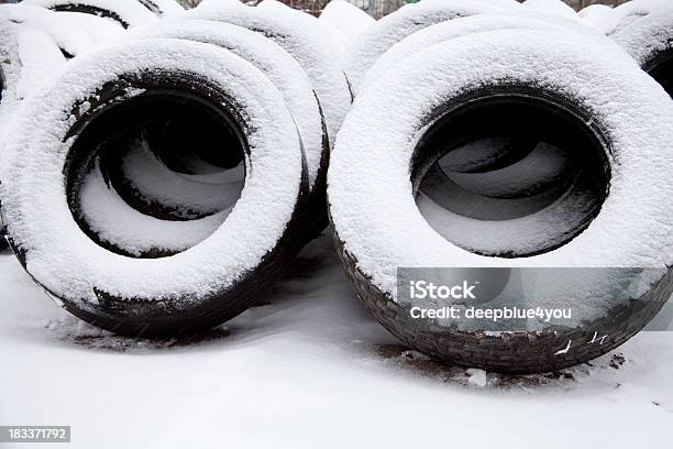
M 71 314 L 133 336 L 207 329 L 328 225 L 351 92 L 317 19 L 172 0 L 0 13 L 5 238 Z M 93 43 L 80 22 L 114 31 Z

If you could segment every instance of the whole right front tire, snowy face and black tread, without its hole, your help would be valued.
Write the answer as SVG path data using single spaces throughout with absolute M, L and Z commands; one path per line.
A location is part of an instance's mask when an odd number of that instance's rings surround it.
M 604 161 L 593 169 L 609 184 L 603 186 L 600 210 L 563 244 L 527 258 L 483 256 L 440 236 L 416 204 L 420 180 L 442 155 L 427 143 L 441 131 L 435 124 L 449 124 L 449 132 L 456 124 L 450 120 L 467 117 L 470 108 L 476 106 L 472 110 L 484 117 L 488 102 L 478 106 L 482 99 L 506 102 L 519 95 L 522 101 L 547 102 L 558 117 L 575 116 L 577 130 L 593 142 L 582 147 Z M 389 121 L 385 129 L 368 125 L 382 118 Z M 671 120 L 669 97 L 626 54 L 606 52 L 605 45 L 571 33 L 482 33 L 405 59 L 363 91 L 330 162 L 334 240 L 357 297 L 405 343 L 463 366 L 544 372 L 618 347 L 651 320 L 673 291 Z M 487 116 L 484 123 L 496 124 Z M 463 231 L 470 232 L 477 221 L 467 220 Z M 519 223 L 514 225 L 519 232 Z M 544 284 L 550 296 L 536 295 L 533 306 L 562 304 L 585 313 L 566 326 L 533 320 L 521 331 L 485 332 L 412 319 L 397 289 L 399 267 L 616 266 L 651 267 L 657 278 L 648 282 L 649 291 L 619 303 L 604 300 L 603 292 L 614 288 L 609 275 L 592 276 L 593 282 L 572 278 L 560 287 Z M 521 285 L 534 288 L 534 274 L 528 276 L 521 276 Z M 556 299 L 548 299 L 552 296 Z M 607 336 L 600 344 L 595 332 Z

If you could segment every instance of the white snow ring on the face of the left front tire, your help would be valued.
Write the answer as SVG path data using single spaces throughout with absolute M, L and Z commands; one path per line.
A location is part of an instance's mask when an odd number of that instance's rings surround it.
M 275 248 L 293 216 L 304 166 L 290 113 L 264 74 L 221 48 L 178 40 L 137 42 L 133 52 L 109 47 L 68 65 L 67 75 L 25 101 L 14 122 L 22 132 L 5 144 L 11 163 L 0 172 L 3 221 L 41 285 L 82 307 L 97 302 L 93 288 L 140 300 L 199 300 Z M 63 182 L 73 142 L 63 136 L 74 122 L 74 102 L 122 74 L 154 70 L 198 75 L 235 99 L 246 117 L 251 155 L 241 198 L 222 226 L 185 252 L 140 260 L 106 251 L 75 222 Z

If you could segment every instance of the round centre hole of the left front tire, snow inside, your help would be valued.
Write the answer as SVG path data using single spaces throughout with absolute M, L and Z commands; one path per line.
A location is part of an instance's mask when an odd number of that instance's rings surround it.
M 234 114 L 178 89 L 108 101 L 71 146 L 73 216 L 99 245 L 129 256 L 185 251 L 224 221 L 245 183 Z

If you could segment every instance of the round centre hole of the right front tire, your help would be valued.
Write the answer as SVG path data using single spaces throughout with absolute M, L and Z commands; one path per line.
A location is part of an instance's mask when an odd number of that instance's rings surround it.
M 571 241 L 597 216 L 609 185 L 607 145 L 576 109 L 523 94 L 451 108 L 417 146 L 421 215 L 482 255 L 530 256 Z

